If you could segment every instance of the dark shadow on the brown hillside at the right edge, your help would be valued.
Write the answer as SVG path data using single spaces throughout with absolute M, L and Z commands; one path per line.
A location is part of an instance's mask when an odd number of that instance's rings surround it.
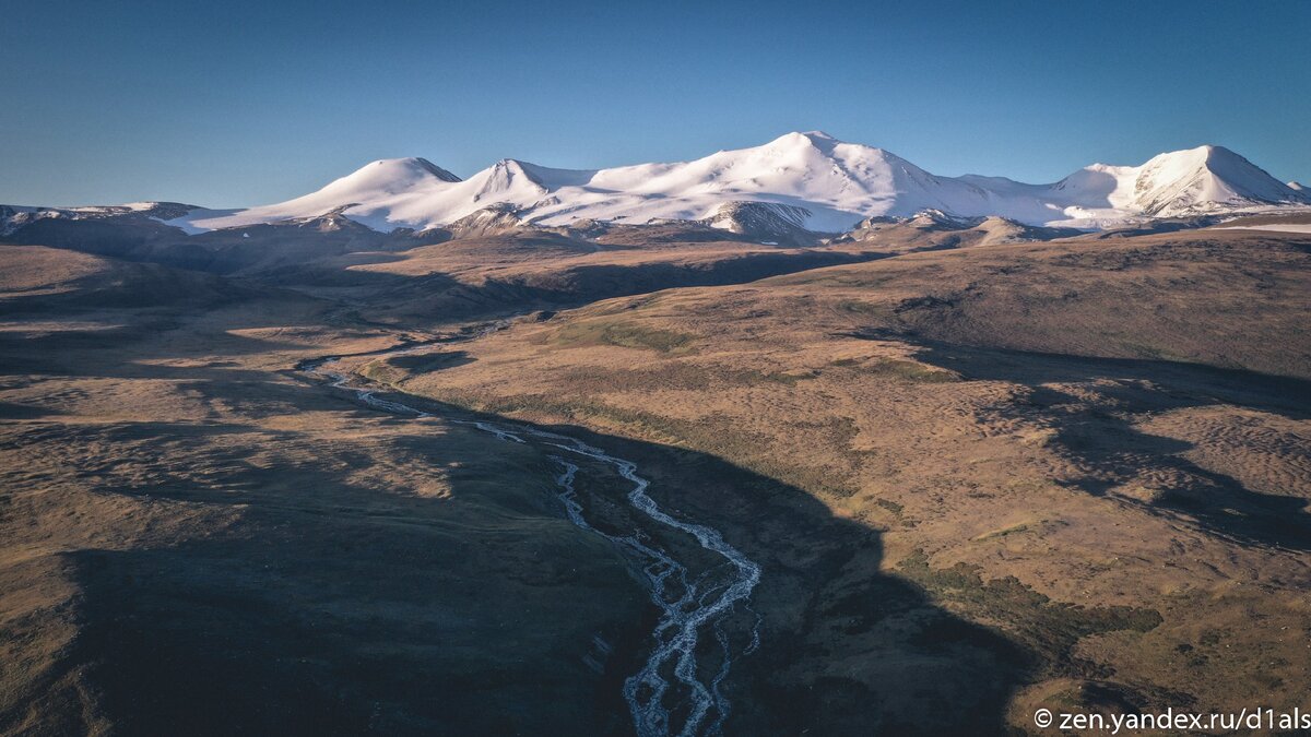
M 1188 460 L 1184 454 L 1193 443 L 1147 434 L 1135 426 L 1148 413 L 1219 404 L 1306 420 L 1311 417 L 1311 382 L 1169 361 L 919 345 L 919 361 L 966 379 L 1028 387 L 1027 403 L 1011 403 L 1002 410 L 1057 430 L 1057 446 L 1092 468 L 1074 481 L 1078 488 L 1103 496 L 1150 467 L 1158 476 L 1184 483 L 1167 485 L 1150 502 L 1126 501 L 1186 515 L 1211 532 L 1248 544 L 1311 549 L 1311 514 L 1304 498 L 1249 489 Z M 1076 384 L 1080 395 L 1092 391 L 1099 400 L 1089 403 L 1063 384 Z

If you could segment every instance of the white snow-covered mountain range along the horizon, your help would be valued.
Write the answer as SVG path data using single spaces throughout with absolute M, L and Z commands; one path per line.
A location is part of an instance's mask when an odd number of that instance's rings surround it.
M 578 219 L 713 222 L 735 202 L 766 203 L 798 227 L 839 232 L 869 216 L 923 210 L 1100 228 L 1307 205 L 1311 195 L 1215 146 L 1162 153 L 1139 167 L 1093 164 L 1055 184 L 1029 185 L 1004 177 L 939 177 L 881 148 L 813 131 L 673 164 L 576 170 L 506 159 L 468 180 L 425 159 L 388 159 L 296 199 L 248 210 L 195 210 L 168 223 L 201 232 L 341 211 L 378 231 L 422 231 L 493 205 L 541 226 Z

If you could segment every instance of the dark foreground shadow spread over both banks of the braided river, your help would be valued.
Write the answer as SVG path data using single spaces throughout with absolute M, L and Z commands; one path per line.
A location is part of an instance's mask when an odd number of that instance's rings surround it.
M 350 401 L 303 392 L 304 407 Z M 130 487 L 90 475 L 97 493 L 235 517 L 168 543 L 68 555 L 84 590 L 75 657 L 96 664 L 108 716 L 132 734 L 631 733 L 620 688 L 650 647 L 654 608 L 624 573 L 631 561 L 564 519 L 552 448 L 532 448 L 531 477 L 518 476 L 527 448 L 355 412 L 362 426 L 416 428 L 385 454 L 397 488 L 361 485 L 379 456 L 350 439 L 307 458 L 282 431 L 260 443 L 287 448 L 270 464 L 190 425 L 101 438 L 216 471 Z M 762 647 L 725 683 L 729 733 L 1003 732 L 1034 657 L 881 573 L 876 531 L 709 455 L 565 430 L 637 462 L 662 505 L 720 526 L 762 564 Z M 405 492 L 406 479 L 489 454 L 507 454 L 503 469 L 451 472 L 450 498 Z M 595 481 L 595 500 L 623 505 L 627 487 Z M 735 648 L 751 619 L 726 623 Z M 713 647 L 709 632 L 703 641 Z

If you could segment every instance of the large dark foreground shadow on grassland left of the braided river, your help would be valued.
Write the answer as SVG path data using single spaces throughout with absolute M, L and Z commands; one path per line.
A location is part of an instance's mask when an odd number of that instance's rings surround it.
M 620 687 L 644 645 L 645 593 L 560 518 L 548 463 L 519 455 L 503 488 L 456 479 L 450 498 L 425 498 L 402 477 L 389 489 L 354 480 L 376 448 L 333 443 L 315 458 L 294 452 L 295 433 L 264 433 L 287 447 L 267 466 L 248 462 L 240 438 L 214 442 L 256 428 L 195 430 L 134 424 L 87 438 L 216 468 L 203 484 L 165 472 L 131 485 L 92 469 L 96 493 L 224 521 L 176 544 L 67 555 L 81 589 L 68 657 L 92 669 L 118 730 L 627 732 Z M 497 450 L 454 428 L 387 460 L 422 475 Z

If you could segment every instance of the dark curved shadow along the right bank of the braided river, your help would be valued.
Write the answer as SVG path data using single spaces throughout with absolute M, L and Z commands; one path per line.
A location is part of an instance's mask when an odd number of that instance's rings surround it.
M 383 396 L 443 416 L 463 414 L 414 396 Z M 637 463 L 662 509 L 714 526 L 762 565 L 750 606 L 725 626 L 741 652 L 750 622 L 759 616 L 762 623 L 760 648 L 737 656 L 725 683 L 733 702 L 728 733 L 1007 733 L 1006 707 L 1020 685 L 1038 674 L 1106 675 L 1072 656 L 1080 637 L 1145 631 L 1160 622 L 1155 611 L 1067 607 L 1015 580 L 983 581 L 973 569 L 944 572 L 919 559 L 901 561 L 902 576 L 888 576 L 881 570 L 880 532 L 835 518 L 796 487 L 682 447 L 578 426 L 551 430 Z M 585 492 L 591 521 L 616 525 L 604 509 L 623 506 L 628 489 L 614 475 L 599 488 L 593 484 Z M 658 527 L 652 530 L 644 527 L 650 539 L 662 540 Z M 684 549 L 676 539 L 663 542 L 667 549 Z M 1021 636 L 964 620 L 936 597 L 982 601 L 994 615 L 1015 620 Z

